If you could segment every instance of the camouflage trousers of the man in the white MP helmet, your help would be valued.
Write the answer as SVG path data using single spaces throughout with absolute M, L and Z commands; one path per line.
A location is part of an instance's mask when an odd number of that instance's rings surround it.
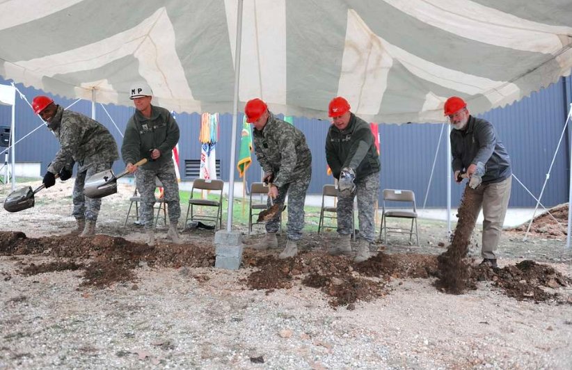
M 177 225 L 181 217 L 179 182 L 173 161 L 156 170 L 138 168 L 135 172 L 137 191 L 141 194 L 141 220 L 145 229 L 152 229 L 154 218 L 155 188 L 163 186 L 169 223 Z M 157 179 L 161 184 L 157 183 Z

